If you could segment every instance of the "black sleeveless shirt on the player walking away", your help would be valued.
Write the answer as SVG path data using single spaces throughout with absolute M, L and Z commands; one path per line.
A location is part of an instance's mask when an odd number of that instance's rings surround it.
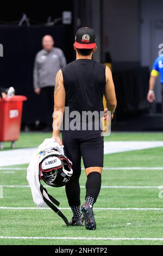
M 77 59 L 62 70 L 66 106 L 70 113 L 104 111 L 105 66 L 91 59 Z

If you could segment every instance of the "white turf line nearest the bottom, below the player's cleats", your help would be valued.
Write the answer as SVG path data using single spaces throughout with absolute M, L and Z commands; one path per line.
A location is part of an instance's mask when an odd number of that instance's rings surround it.
M 48 236 L 0 236 L 0 239 L 16 239 L 16 240 L 112 240 L 112 241 L 163 241 L 163 238 L 150 237 L 48 237 Z

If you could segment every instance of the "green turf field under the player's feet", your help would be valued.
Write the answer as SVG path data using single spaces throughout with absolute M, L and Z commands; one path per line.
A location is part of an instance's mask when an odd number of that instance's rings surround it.
M 51 134 L 23 133 L 16 147 L 36 147 L 46 137 Z M 105 141 L 125 143 L 162 139 L 162 133 L 112 133 Z M 9 143 L 5 146 L 9 149 Z M 0 168 L 0 185 L 5 185 L 4 198 L 0 199 L 0 245 L 163 245 L 163 188 L 158 188 L 163 186 L 162 151 L 163 148 L 154 148 L 105 155 L 103 187 L 94 206 L 95 231 L 86 230 L 84 226 L 67 228 L 52 210 L 31 209 L 35 205 L 30 188 L 26 187 L 24 168 L 27 165 L 17 164 L 9 167 L 10 170 Z M 128 168 L 116 169 L 121 167 Z M 85 181 L 83 170 L 80 178 L 82 202 Z M 17 187 L 20 185 L 22 187 Z M 68 208 L 64 188 L 49 187 L 48 192 L 61 202 L 61 208 Z M 71 219 L 70 210 L 62 212 Z M 133 240 L 124 240 L 127 238 Z

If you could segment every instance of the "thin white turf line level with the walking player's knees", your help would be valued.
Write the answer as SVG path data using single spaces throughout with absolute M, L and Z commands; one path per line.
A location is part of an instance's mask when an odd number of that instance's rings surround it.
M 27 168 L 0 167 L 0 170 L 27 170 Z M 104 167 L 103 170 L 163 170 L 163 167 Z

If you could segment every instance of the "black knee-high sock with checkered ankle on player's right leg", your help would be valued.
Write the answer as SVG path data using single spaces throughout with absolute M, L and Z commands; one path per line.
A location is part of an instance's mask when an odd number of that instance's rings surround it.
M 95 204 L 99 191 L 101 190 L 101 174 L 97 172 L 92 172 L 87 175 L 86 181 L 86 203 L 89 203 L 91 207 Z

